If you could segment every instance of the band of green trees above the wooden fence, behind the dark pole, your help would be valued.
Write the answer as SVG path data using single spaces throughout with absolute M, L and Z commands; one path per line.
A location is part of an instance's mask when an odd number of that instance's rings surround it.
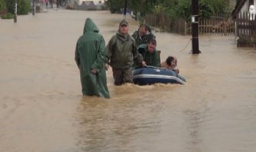
M 192 0 L 128 0 L 128 8 L 134 14 L 167 14 L 171 18 L 183 18 L 190 21 Z M 112 13 L 120 12 L 125 6 L 125 0 L 108 0 L 106 5 Z M 227 0 L 199 0 L 199 16 L 208 18 L 227 11 Z

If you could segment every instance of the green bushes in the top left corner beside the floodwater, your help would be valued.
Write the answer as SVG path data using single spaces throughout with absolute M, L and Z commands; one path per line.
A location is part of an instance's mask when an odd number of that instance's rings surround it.
M 15 11 L 15 0 L 5 0 L 8 12 L 14 13 Z M 17 0 L 17 13 L 28 14 L 31 9 L 30 0 Z

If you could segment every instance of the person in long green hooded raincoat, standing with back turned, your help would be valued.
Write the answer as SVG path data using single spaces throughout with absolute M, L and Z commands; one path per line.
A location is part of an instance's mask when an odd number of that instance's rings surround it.
M 110 98 L 104 57 L 105 40 L 92 19 L 87 18 L 83 35 L 77 40 L 75 53 L 83 95 Z

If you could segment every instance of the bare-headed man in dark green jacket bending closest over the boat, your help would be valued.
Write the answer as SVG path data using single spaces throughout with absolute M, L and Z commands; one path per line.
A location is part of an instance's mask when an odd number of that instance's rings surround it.
M 143 56 L 146 65 L 160 67 L 160 59 L 157 54 L 157 41 L 155 39 L 148 40 L 147 44 L 138 46 L 138 52 Z

